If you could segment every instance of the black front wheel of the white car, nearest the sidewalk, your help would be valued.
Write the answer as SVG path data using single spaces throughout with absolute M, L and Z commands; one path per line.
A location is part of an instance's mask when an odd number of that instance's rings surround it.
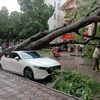
M 31 68 L 26 67 L 24 69 L 24 77 L 27 78 L 27 79 L 30 79 L 30 80 L 34 79 L 34 74 L 33 74 L 33 71 L 32 71 Z

